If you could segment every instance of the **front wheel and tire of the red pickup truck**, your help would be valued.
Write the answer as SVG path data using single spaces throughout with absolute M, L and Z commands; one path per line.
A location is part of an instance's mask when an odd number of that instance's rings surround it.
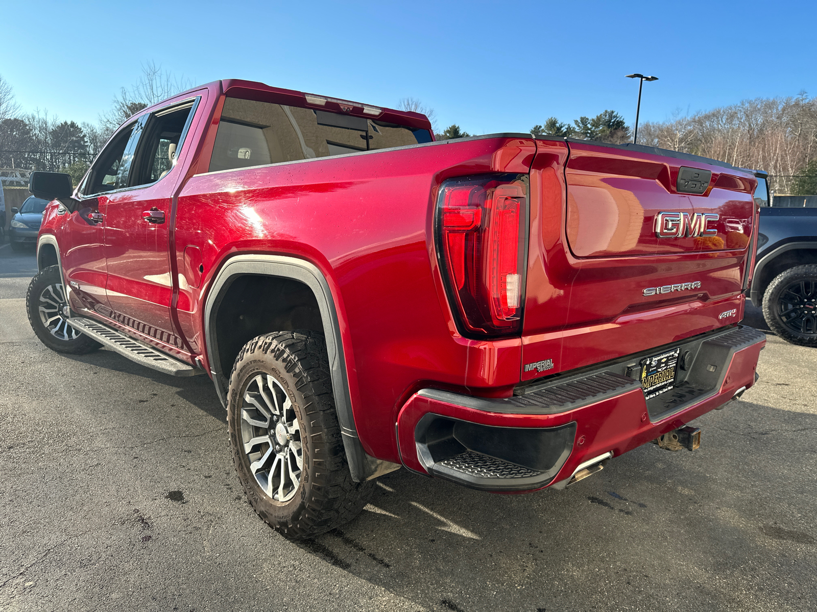
M 70 326 L 65 314 L 67 307 L 58 266 L 44 268 L 31 279 L 25 295 L 25 308 L 31 329 L 42 344 L 57 353 L 72 355 L 96 351 L 102 345 Z

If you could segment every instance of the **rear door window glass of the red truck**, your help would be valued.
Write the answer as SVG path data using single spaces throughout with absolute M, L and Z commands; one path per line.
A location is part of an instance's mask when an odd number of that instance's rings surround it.
M 192 110 L 193 102 L 188 102 L 150 115 L 131 171 L 132 187 L 155 183 L 176 165 L 181 135 Z

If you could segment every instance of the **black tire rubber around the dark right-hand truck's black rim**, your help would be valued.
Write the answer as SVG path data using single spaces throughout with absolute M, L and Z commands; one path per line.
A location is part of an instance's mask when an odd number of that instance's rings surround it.
M 806 331 L 803 327 L 800 330 L 794 329 L 798 327 L 792 326 L 792 323 L 787 323 L 781 317 L 781 304 L 786 300 L 787 290 L 796 283 L 803 283 L 806 286 L 805 296 L 797 295 L 800 299 L 797 304 L 801 304 L 800 308 L 806 313 L 808 324 Z M 801 285 L 801 286 L 803 286 Z M 817 347 L 817 264 L 808 264 L 802 266 L 795 266 L 788 268 L 782 273 L 779 273 L 763 294 L 763 318 L 766 319 L 766 324 L 772 331 L 780 338 L 792 344 L 800 344 L 801 346 Z M 809 299 L 810 297 L 810 299 Z M 788 300 L 792 302 L 791 299 Z M 808 330 L 814 330 L 810 332 Z

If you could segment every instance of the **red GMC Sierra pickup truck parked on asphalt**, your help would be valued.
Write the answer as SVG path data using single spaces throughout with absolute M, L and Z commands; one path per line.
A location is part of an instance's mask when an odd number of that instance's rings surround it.
M 754 384 L 755 175 L 225 80 L 145 109 L 53 200 L 38 337 L 207 374 L 252 506 L 291 538 L 401 466 L 564 488 Z

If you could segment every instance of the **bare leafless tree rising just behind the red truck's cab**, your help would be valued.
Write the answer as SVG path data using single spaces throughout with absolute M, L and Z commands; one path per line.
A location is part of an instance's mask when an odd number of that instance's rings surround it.
M 185 89 L 190 89 L 190 79 L 176 78 L 161 64 L 150 61 L 142 65 L 139 80 L 130 88 L 123 87 L 113 100 L 111 109 L 100 113 L 100 128 L 105 140 L 113 134 L 128 118 L 152 104 L 172 97 Z

